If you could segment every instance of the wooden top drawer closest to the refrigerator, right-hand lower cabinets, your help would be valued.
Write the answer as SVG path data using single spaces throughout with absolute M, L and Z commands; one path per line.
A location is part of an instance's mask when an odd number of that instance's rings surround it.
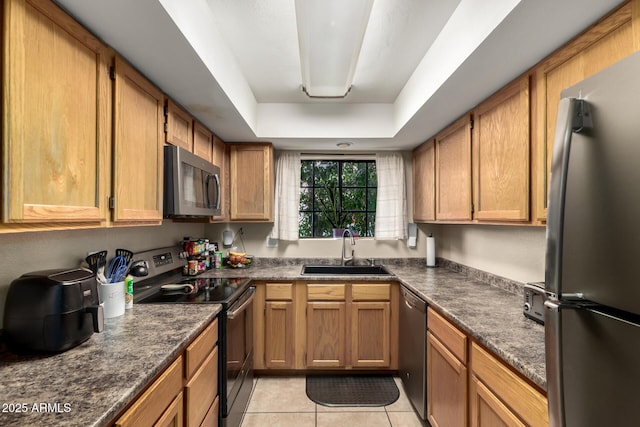
M 471 370 L 527 425 L 549 425 L 547 399 L 476 343 L 471 345 Z

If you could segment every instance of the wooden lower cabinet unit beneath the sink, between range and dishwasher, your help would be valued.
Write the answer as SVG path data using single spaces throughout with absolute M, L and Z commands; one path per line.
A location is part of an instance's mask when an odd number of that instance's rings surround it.
M 396 283 L 254 284 L 255 369 L 397 369 Z

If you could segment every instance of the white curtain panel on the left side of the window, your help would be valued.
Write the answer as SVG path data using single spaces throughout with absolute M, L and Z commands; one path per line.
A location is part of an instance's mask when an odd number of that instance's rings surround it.
M 300 153 L 281 151 L 276 157 L 276 190 L 272 239 L 298 240 Z

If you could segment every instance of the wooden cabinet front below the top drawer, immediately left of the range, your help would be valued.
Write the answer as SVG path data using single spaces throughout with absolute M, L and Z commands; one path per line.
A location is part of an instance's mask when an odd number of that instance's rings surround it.
M 218 347 L 185 386 L 186 426 L 199 426 L 218 394 Z

